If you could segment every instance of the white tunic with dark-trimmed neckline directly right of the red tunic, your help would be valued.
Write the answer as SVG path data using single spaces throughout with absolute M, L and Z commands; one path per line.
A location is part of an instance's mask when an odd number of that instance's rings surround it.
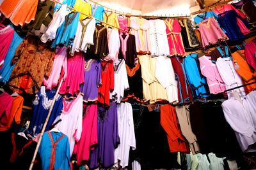
M 124 98 L 125 90 L 129 89 L 128 77 L 123 59 L 114 62 L 115 88 L 110 94 L 110 99 L 120 104 Z

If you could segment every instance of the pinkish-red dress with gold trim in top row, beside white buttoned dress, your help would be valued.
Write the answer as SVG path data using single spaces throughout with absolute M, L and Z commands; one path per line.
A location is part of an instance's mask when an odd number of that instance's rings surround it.
M 170 56 L 180 55 L 180 57 L 184 57 L 186 55 L 182 36 L 181 36 L 181 27 L 179 25 L 178 20 L 164 20 L 166 24 L 166 34 L 168 38 L 168 44 L 170 48 Z

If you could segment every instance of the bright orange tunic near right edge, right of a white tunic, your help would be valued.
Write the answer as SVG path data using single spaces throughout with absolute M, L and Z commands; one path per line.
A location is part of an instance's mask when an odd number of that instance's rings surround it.
M 236 69 L 236 72 L 241 76 L 243 84 L 252 83 L 256 81 L 256 72 L 250 67 L 246 61 L 244 50 L 237 50 L 232 53 L 233 64 L 239 66 L 239 69 Z M 256 89 L 256 83 L 252 85 L 244 86 L 246 94 L 252 92 Z

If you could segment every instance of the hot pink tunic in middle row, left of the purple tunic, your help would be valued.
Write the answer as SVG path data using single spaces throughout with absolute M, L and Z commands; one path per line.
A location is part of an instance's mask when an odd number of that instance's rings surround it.
M 76 52 L 74 56 L 67 55 L 67 78 L 61 85 L 60 94 L 78 94 L 79 85 L 82 83 L 84 83 L 83 53 Z

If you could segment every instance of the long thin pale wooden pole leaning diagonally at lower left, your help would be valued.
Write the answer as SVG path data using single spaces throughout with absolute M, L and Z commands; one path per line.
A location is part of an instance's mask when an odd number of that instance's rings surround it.
M 43 126 L 43 129 L 42 129 L 42 132 L 39 134 L 40 136 L 39 136 L 39 139 L 38 139 L 38 143 L 37 143 L 37 145 L 36 145 L 36 150 L 35 150 L 35 153 L 34 153 L 34 155 L 33 155 L 33 159 L 32 159 L 31 164 L 30 164 L 30 166 L 29 166 L 29 170 L 32 170 L 33 165 L 34 165 L 34 163 L 35 163 L 36 154 L 37 154 L 37 152 L 38 152 L 40 143 L 41 143 L 41 141 L 42 141 L 42 137 L 43 137 L 43 135 L 44 135 L 44 131 L 45 131 L 46 125 L 47 125 L 47 123 L 48 123 L 48 121 L 49 121 L 49 118 L 50 118 L 50 115 L 51 115 L 51 113 L 52 113 L 52 108 L 53 108 L 54 103 L 55 103 L 55 101 L 56 101 L 56 98 L 57 98 L 57 96 L 58 96 L 58 94 L 59 94 L 59 91 L 60 91 L 60 87 L 61 87 L 62 82 L 63 82 L 63 78 L 61 78 L 61 81 L 60 81 L 60 85 L 59 85 L 59 87 L 58 87 L 58 90 L 57 90 L 55 96 L 53 97 L 52 105 L 51 105 L 51 108 L 50 108 L 50 110 L 49 110 L 49 113 L 48 113 L 48 115 L 47 115 L 47 117 L 46 117 L 46 120 L 45 120 L 45 122 L 44 122 L 44 126 Z

